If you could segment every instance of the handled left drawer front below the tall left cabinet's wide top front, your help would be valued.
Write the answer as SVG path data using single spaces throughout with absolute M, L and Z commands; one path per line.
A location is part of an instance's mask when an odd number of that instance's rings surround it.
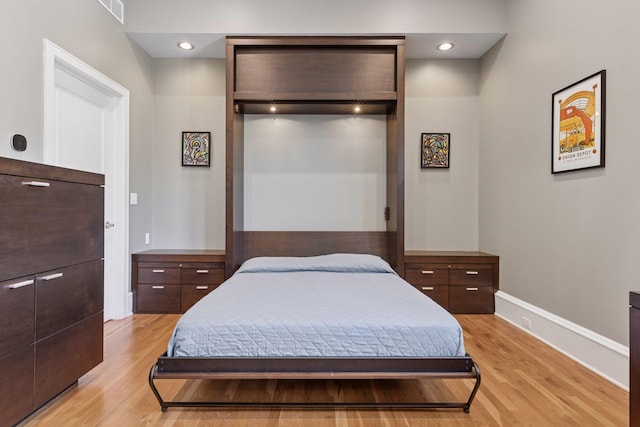
M 0 282 L 0 359 L 33 343 L 34 276 Z

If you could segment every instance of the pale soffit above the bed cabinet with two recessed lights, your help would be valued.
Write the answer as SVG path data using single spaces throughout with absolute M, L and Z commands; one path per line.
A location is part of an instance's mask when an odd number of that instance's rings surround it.
M 153 58 L 224 58 L 227 35 L 405 36 L 407 58 L 480 58 L 507 32 L 507 1 L 126 0 L 125 23 Z

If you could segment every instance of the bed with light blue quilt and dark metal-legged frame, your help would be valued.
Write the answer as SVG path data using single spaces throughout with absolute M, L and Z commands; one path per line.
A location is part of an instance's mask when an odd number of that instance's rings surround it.
M 161 379 L 473 380 L 461 402 L 167 401 Z M 149 385 L 160 407 L 402 407 L 469 412 L 480 370 L 446 310 L 374 255 L 257 257 L 178 320 Z

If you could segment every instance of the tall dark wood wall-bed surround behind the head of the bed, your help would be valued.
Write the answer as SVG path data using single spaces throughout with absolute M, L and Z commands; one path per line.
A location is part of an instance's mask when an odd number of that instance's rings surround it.
M 335 241 L 404 271 L 404 37 L 227 37 L 226 276 L 246 259 L 332 252 Z M 382 231 L 260 231 L 244 227 L 245 114 L 386 117 L 386 227 Z

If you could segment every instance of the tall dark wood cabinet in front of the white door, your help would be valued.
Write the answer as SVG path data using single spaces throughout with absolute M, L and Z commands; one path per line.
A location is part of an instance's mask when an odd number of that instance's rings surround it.
M 103 185 L 0 158 L 0 426 L 102 362 Z

